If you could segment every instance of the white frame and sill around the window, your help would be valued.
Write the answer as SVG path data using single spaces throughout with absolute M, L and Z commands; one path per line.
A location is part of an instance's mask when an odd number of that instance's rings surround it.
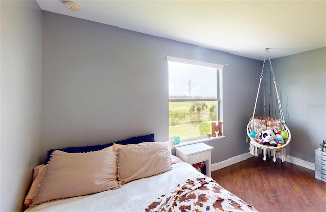
M 196 60 L 189 60 L 189 59 L 184 59 L 184 58 L 177 58 L 177 57 L 171 57 L 167 56 L 167 61 L 168 62 L 177 62 L 177 63 L 185 63 L 185 64 L 191 64 L 191 65 L 199 65 L 199 66 L 206 66 L 210 68 L 216 68 L 218 71 L 218 117 L 217 117 L 217 122 L 221 121 L 223 122 L 223 68 L 224 65 L 220 64 L 215 64 L 215 63 L 207 63 L 207 62 L 202 62 L 202 61 L 196 61 Z M 206 138 L 206 136 L 199 136 L 199 137 L 192 137 L 192 138 L 186 138 L 186 139 L 181 139 L 180 143 L 186 142 L 188 143 L 197 143 L 203 141 L 203 139 Z M 219 138 L 219 137 L 216 137 Z M 224 136 L 220 137 L 224 138 Z M 205 140 L 205 139 L 204 139 Z M 182 144 L 180 144 L 181 146 Z M 185 145 L 185 144 L 183 144 Z

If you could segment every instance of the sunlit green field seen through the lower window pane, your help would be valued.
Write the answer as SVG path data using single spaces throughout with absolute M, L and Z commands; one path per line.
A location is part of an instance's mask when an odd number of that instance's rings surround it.
M 211 120 L 209 108 L 211 105 L 215 105 L 215 101 L 206 101 L 207 109 L 201 111 L 200 123 L 196 122 L 197 113 L 189 111 L 189 105 L 191 102 L 169 102 L 169 136 L 180 136 L 181 139 L 200 136 L 199 127 L 201 124 L 215 122 Z M 183 117 L 176 118 L 177 121 L 173 122 L 172 113 L 183 114 Z M 177 122 L 177 124 L 175 124 Z M 174 124 L 172 124 L 174 123 Z M 211 128 L 209 133 L 211 132 Z

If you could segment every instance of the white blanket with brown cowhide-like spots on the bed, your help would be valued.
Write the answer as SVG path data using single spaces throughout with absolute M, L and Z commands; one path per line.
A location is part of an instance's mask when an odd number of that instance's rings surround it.
M 178 184 L 151 203 L 152 211 L 257 211 L 207 176 L 194 177 Z

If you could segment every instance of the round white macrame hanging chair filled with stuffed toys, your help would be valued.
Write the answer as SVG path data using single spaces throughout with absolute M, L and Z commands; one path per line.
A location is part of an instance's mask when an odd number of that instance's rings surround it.
M 259 77 L 259 86 L 258 86 L 253 116 L 249 120 L 249 123 L 247 125 L 247 135 L 250 138 L 249 151 L 252 155 L 258 157 L 258 149 L 262 149 L 263 160 L 265 160 L 265 161 L 266 161 L 266 153 L 268 153 L 268 152 L 270 154 L 273 153 L 273 161 L 274 162 L 276 162 L 276 155 L 280 153 L 282 163 L 283 163 L 286 158 L 285 148 L 291 141 L 291 133 L 290 133 L 289 128 L 285 124 L 284 115 L 283 115 L 281 102 L 280 102 L 279 94 L 278 94 L 277 87 L 276 87 L 275 76 L 274 76 L 274 72 L 273 72 L 273 67 L 271 66 L 271 60 L 270 60 L 268 49 L 269 48 L 265 49 L 266 50 L 265 58 L 264 58 L 264 62 L 263 62 L 263 68 L 261 70 L 261 75 Z M 275 87 L 275 91 L 276 91 L 276 97 L 277 97 L 277 103 L 278 103 L 278 108 L 279 108 L 279 112 L 280 112 L 280 118 L 265 116 L 265 110 L 263 112 L 263 116 L 255 117 L 256 105 L 257 105 L 257 100 L 258 100 L 258 96 L 259 96 L 261 81 L 263 79 L 263 71 L 264 71 L 264 65 L 265 65 L 265 60 L 266 60 L 267 54 L 268 54 L 269 64 L 270 64 L 270 76 L 273 79 L 274 87 Z M 271 130 L 271 131 L 273 131 L 273 133 L 278 134 L 277 138 L 279 138 L 280 140 L 278 140 L 276 147 L 275 147 L 275 142 L 274 142 L 273 146 L 263 144 L 264 143 L 263 137 L 264 137 L 264 133 L 266 133 L 266 130 L 268 132 L 270 132 L 269 130 Z

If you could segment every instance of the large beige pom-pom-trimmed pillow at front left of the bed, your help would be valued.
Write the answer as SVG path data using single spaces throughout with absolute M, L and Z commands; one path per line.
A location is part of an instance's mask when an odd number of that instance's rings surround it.
M 42 202 L 102 192 L 118 187 L 117 153 L 52 153 L 32 207 Z

